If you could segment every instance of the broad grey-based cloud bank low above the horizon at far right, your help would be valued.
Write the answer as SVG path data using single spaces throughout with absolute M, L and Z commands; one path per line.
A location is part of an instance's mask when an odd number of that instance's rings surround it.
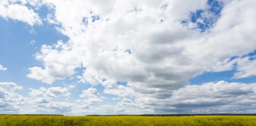
M 155 110 L 193 113 L 192 110 L 196 109 L 198 113 L 206 110 L 210 110 L 211 113 L 233 113 L 233 110 L 235 111 L 234 108 L 237 107 L 247 108 L 242 113 L 251 113 L 254 109 L 252 105 L 255 103 L 255 85 L 256 83 L 227 83 L 219 81 L 217 83 L 185 86 L 174 91 L 172 97 L 162 101 L 158 100 L 157 105 L 162 105 L 162 107 L 157 106 L 158 108 L 155 108 Z M 229 106 L 233 110 L 225 109 Z

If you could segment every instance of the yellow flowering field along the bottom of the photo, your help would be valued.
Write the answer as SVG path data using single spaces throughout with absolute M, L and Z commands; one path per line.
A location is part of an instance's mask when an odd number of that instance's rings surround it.
M 0 115 L 0 126 L 256 126 L 256 116 L 27 116 Z

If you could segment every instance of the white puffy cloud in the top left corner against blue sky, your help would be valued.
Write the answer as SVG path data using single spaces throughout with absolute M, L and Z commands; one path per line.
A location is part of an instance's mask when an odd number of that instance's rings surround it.
M 5 19 L 19 20 L 28 23 L 30 26 L 34 24 L 43 25 L 39 15 L 32 9 L 25 6 L 24 0 L 17 0 L 20 4 L 16 4 L 9 0 L 3 0 L 0 3 L 0 16 Z

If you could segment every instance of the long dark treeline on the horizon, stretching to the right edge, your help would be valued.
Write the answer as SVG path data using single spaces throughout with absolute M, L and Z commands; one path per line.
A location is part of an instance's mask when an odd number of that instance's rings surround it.
M 145 114 L 145 115 L 86 115 L 86 116 L 204 116 L 204 115 L 251 115 L 256 116 L 256 114 Z

